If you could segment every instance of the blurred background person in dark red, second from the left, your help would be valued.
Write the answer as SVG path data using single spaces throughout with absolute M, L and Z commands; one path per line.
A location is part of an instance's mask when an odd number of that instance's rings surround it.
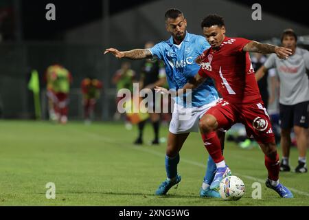
M 102 82 L 98 79 L 88 77 L 82 80 L 82 105 L 84 107 L 84 122 L 90 124 L 93 120 L 95 104 L 100 98 Z

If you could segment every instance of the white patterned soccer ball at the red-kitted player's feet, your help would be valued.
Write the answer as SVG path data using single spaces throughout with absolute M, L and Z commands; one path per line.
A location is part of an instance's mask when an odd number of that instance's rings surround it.
M 225 177 L 220 182 L 220 195 L 225 200 L 238 200 L 244 195 L 244 182 L 236 176 Z

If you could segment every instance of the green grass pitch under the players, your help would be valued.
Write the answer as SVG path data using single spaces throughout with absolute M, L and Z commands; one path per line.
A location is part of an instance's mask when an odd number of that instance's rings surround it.
M 167 127 L 162 127 L 166 137 Z M 137 128 L 123 124 L 0 120 L 1 206 L 309 206 L 309 174 L 281 173 L 280 181 L 294 199 L 281 199 L 266 186 L 264 155 L 227 142 L 225 158 L 246 185 L 239 201 L 198 197 L 207 153 L 198 133 L 191 133 L 181 150 L 182 181 L 166 196 L 154 192 L 165 179 L 165 144 L 135 146 Z M 152 140 L 148 124 L 145 142 Z M 279 153 L 281 151 L 279 149 Z M 297 150 L 290 162 L 297 165 Z M 46 199 L 45 185 L 56 185 L 56 199 Z M 262 185 L 262 199 L 253 199 L 253 182 Z

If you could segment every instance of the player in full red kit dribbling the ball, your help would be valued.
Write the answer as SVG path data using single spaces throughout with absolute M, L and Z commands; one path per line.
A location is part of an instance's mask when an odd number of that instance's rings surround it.
M 236 122 L 241 122 L 246 126 L 247 135 L 255 137 L 265 154 L 265 166 L 268 170 L 266 186 L 275 190 L 280 197 L 293 197 L 288 188 L 279 184 L 279 157 L 271 121 L 262 102 L 249 58 L 249 52 L 275 53 L 279 58 L 288 58 L 291 50 L 242 38 L 229 38 L 225 36 L 223 18 L 216 14 L 203 19 L 201 26 L 211 47 L 196 60 L 201 68 L 183 89 L 194 89 L 210 77 L 214 79 L 222 95 L 222 99 L 200 120 L 203 142 L 217 166 L 210 188 L 217 189 L 222 178 L 231 175 L 222 156 L 216 130 L 229 129 Z

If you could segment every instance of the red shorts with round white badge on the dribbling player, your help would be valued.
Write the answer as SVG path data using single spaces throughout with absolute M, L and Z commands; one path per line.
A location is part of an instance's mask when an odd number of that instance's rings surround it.
M 207 114 L 214 115 L 219 129 L 230 129 L 233 124 L 242 123 L 248 137 L 253 136 L 259 143 L 275 143 L 271 120 L 262 100 L 254 104 L 231 104 L 220 99 Z

